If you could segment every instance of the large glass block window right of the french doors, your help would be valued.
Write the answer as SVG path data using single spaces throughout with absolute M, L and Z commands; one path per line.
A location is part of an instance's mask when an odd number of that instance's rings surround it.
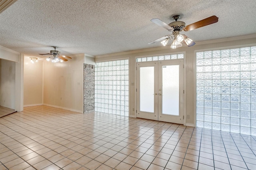
M 256 136 L 256 47 L 196 53 L 196 126 Z

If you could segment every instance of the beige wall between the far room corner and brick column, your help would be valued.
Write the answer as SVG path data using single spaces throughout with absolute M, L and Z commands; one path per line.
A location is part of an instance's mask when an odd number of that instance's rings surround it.
M 45 105 L 83 112 L 84 55 L 63 63 L 44 60 L 43 96 Z

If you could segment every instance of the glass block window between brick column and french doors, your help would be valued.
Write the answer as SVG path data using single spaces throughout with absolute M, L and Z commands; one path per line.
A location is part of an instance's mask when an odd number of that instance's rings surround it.
M 95 111 L 129 116 L 129 60 L 96 63 Z

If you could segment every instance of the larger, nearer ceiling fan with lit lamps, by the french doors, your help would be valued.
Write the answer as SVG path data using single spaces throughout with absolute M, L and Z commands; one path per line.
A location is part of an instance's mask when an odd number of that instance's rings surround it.
M 218 22 L 218 17 L 210 16 L 208 18 L 205 18 L 203 20 L 200 20 L 198 22 L 195 22 L 193 24 L 190 24 L 190 25 L 186 26 L 185 22 L 177 21 L 180 18 L 179 15 L 175 15 L 172 18 L 175 21 L 171 22 L 170 24 L 166 24 L 166 23 L 162 22 L 161 20 L 159 20 L 158 18 L 154 18 L 154 19 L 150 20 L 151 22 L 154 22 L 158 26 L 161 26 L 161 27 L 165 28 L 166 30 L 168 30 L 172 34 L 164 36 L 164 37 L 159 38 L 157 40 L 154 40 L 154 41 L 152 41 L 148 44 L 152 44 L 152 43 L 162 41 L 161 44 L 166 46 L 166 44 L 168 43 L 169 40 L 174 39 L 173 42 L 172 42 L 172 45 L 171 45 L 172 49 L 175 49 L 177 47 L 182 47 L 181 42 L 185 43 L 188 47 L 191 47 L 191 46 L 195 45 L 196 43 L 193 42 L 193 40 L 188 38 L 186 35 L 184 35 L 184 34 L 181 35 L 180 34 L 181 31 L 191 31 L 191 30 L 195 30 L 197 28 L 201 28 L 201 27 L 208 26 L 210 24 L 214 24 L 214 23 Z

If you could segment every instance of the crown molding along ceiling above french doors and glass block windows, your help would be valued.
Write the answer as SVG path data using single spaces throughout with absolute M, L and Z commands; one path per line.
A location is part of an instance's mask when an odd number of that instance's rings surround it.
M 208 41 L 203 41 L 203 42 L 196 42 L 195 45 L 244 40 L 244 39 L 248 39 L 248 38 L 256 38 L 256 34 L 250 34 L 250 35 L 238 36 L 238 37 L 230 37 L 230 38 L 222 38 L 222 39 L 217 39 L 217 40 L 208 40 Z M 138 50 L 133 50 L 133 51 L 124 51 L 124 52 L 119 52 L 119 53 L 96 55 L 95 58 L 111 57 L 111 56 L 116 56 L 116 55 L 126 55 L 126 54 L 132 54 L 132 53 L 141 53 L 141 52 L 146 52 L 146 51 L 157 51 L 157 50 L 162 50 L 162 49 L 166 49 L 166 47 L 162 46 L 162 47 L 155 47 L 155 48 L 138 49 Z

